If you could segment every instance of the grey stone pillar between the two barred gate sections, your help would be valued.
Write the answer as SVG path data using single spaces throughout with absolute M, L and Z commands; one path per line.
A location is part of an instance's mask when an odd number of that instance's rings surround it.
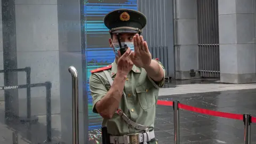
M 174 0 L 175 79 L 199 78 L 197 68 L 196 0 Z M 191 77 L 190 69 L 196 71 Z

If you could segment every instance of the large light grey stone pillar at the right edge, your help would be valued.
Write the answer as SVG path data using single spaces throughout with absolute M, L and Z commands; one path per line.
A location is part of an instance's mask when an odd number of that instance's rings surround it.
M 222 83 L 256 81 L 254 3 L 253 0 L 219 1 Z

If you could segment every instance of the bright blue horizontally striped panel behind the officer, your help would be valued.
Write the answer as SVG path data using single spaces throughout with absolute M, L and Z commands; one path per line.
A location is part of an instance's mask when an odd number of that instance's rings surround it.
M 92 97 L 89 87 L 89 78 L 91 75 L 90 70 L 110 65 L 114 61 L 115 55 L 113 53 L 113 49 L 111 47 L 108 47 L 108 39 L 102 39 L 102 35 L 109 35 L 108 29 L 103 23 L 103 17 L 108 12 L 121 8 L 137 10 L 137 0 L 127 0 L 125 3 L 122 4 L 112 4 L 104 2 L 86 3 L 84 7 L 85 17 L 87 17 L 85 21 L 85 33 L 87 35 L 86 37 L 93 35 L 93 41 L 99 41 L 99 45 L 100 43 L 106 43 L 105 46 L 101 47 L 97 45 L 92 45 L 89 41 L 87 41 L 86 43 L 85 59 L 87 61 L 87 66 L 84 68 L 84 73 L 87 73 L 87 82 L 84 83 L 83 87 L 87 90 L 87 98 L 89 102 L 89 140 L 95 140 L 92 135 L 97 135 L 97 133 L 101 129 L 102 121 L 100 115 L 92 113 Z M 98 34 L 99 36 L 95 36 L 95 34 Z

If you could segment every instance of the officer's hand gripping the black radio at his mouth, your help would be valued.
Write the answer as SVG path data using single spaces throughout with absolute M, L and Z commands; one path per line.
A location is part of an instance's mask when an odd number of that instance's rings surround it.
M 130 47 L 126 50 L 126 52 L 118 59 L 117 62 L 117 73 L 127 76 L 133 67 L 133 62 L 131 60 L 131 55 L 133 51 L 131 51 Z M 118 54 L 121 53 L 118 51 Z

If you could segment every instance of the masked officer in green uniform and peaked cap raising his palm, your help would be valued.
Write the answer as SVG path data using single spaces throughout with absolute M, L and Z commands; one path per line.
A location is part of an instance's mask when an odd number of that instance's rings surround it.
M 146 21 L 145 15 L 129 9 L 109 12 L 104 18 L 115 61 L 92 70 L 90 76 L 93 112 L 103 117 L 103 143 L 156 143 L 156 103 L 165 69 L 151 58 L 140 35 Z

